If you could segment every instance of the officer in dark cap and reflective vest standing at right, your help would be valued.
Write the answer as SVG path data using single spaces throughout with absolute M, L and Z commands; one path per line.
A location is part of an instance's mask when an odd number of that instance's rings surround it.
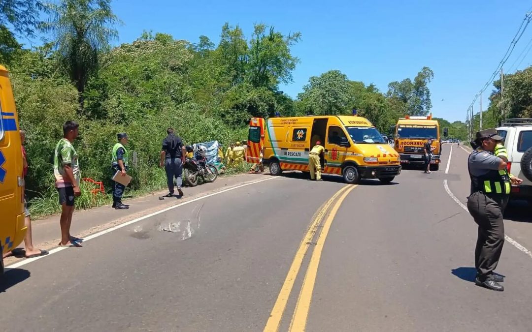
M 478 225 L 475 248 L 475 284 L 493 291 L 504 291 L 503 278 L 494 274 L 504 244 L 503 212 L 508 203 L 511 184 L 522 182 L 506 171 L 506 162 L 495 156 L 497 141 L 503 138 L 495 129 L 476 133 L 476 149 L 468 159 L 471 178 L 471 195 L 468 197 L 469 213 Z

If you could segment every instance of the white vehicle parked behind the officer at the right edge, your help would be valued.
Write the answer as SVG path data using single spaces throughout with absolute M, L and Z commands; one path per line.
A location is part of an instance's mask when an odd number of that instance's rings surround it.
M 513 185 L 510 197 L 525 199 L 532 205 L 532 119 L 516 118 L 503 121 L 497 133 L 504 138 L 508 151 L 508 169 L 523 180 Z

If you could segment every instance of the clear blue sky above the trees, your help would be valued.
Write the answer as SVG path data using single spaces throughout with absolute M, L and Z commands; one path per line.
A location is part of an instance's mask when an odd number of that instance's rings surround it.
M 531 7 L 532 1 L 521 0 L 113 1 L 113 11 L 124 22 L 118 27 L 117 44 L 135 40 L 144 30 L 192 42 L 205 35 L 217 43 L 225 22 L 240 25 L 246 36 L 253 23 L 273 25 L 283 33 L 301 32 L 301 42 L 293 47 L 301 63 L 294 82 L 281 87 L 292 97 L 310 76 L 332 69 L 386 92 L 389 82 L 413 78 L 429 66 L 435 73 L 429 86 L 433 115 L 450 121 L 465 120 L 473 97 L 496 69 Z M 532 24 L 505 72 L 515 71 L 510 67 L 529 41 Z M 532 63 L 527 50 L 519 69 Z M 484 109 L 489 92 L 491 88 L 483 96 Z

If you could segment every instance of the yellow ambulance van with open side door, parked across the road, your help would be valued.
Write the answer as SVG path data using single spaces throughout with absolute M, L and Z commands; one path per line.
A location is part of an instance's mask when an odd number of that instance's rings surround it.
M 309 171 L 309 151 L 317 141 L 325 147 L 321 169 L 338 174 L 346 183 L 361 178 L 391 182 L 401 173 L 397 152 L 366 118 L 352 116 L 273 117 L 250 121 L 247 161 L 261 159 L 272 175 Z

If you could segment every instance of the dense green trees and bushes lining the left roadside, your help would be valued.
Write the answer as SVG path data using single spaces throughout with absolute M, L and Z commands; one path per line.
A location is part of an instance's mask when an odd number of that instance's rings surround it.
M 292 82 L 300 62 L 292 47 L 301 34 L 284 35 L 265 24 L 255 24 L 247 38 L 238 25 L 226 23 L 218 44 L 205 36 L 190 42 L 144 32 L 111 48 L 119 19 L 109 0 L 45 5 L 0 0 L 0 7 L 7 11 L 0 13 L 0 56 L 11 71 L 21 126 L 27 130 L 27 189 L 44 195 L 36 201 L 43 211 L 56 210 L 51 163 L 65 120 L 80 123 L 74 146 L 82 177 L 103 181 L 107 189 L 111 147 L 116 133 L 126 131 L 135 155 L 131 188 L 146 191 L 165 184 L 158 160 L 167 127 L 187 143 L 219 140 L 227 146 L 246 140 L 252 116 L 351 114 L 355 108 L 388 133 L 398 117 L 427 114 L 431 108 L 428 84 L 434 74 L 428 67 L 413 80 L 390 83 L 386 93 L 333 70 L 311 77 L 303 92 L 290 98 L 279 84 Z M 38 8 L 48 14 L 45 22 L 36 21 Z M 7 23 L 16 30 L 7 29 Z M 22 49 L 14 33 L 31 35 L 37 27 L 53 39 Z M 82 207 L 101 203 L 80 200 Z

